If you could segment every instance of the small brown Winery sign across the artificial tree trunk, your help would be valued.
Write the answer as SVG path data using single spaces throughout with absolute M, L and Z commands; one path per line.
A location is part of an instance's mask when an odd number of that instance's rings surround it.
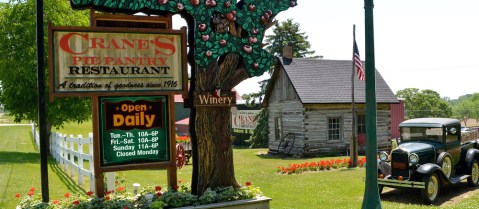
M 196 107 L 231 107 L 236 105 L 236 92 L 227 92 L 219 95 L 195 92 L 194 96 Z

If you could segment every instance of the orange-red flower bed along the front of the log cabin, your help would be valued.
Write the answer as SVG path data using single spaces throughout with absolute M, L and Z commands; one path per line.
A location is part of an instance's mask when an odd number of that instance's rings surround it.
M 358 166 L 363 167 L 366 164 L 366 158 L 358 159 Z M 301 164 L 289 164 L 288 167 L 277 166 L 277 173 L 280 174 L 300 174 L 311 171 L 324 171 L 338 168 L 347 168 L 351 166 L 349 158 L 321 160 L 318 162 L 305 162 Z

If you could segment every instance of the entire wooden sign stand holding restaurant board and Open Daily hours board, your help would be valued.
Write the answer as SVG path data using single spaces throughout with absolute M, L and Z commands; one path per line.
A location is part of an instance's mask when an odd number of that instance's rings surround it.
M 166 169 L 176 185 L 173 95 L 188 88 L 186 28 L 50 24 L 48 42 L 50 100 L 92 97 L 95 193 L 104 196 L 103 173 L 122 170 Z

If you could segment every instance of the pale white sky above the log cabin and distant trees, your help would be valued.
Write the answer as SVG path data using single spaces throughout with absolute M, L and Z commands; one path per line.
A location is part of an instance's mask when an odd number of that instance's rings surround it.
M 5 2 L 6 0 L 0 0 Z M 394 93 L 431 89 L 455 99 L 479 92 L 479 1 L 374 1 L 376 68 Z M 324 59 L 349 60 L 352 26 L 365 57 L 364 0 L 298 0 L 276 19 L 292 18 Z M 173 25 L 184 25 L 175 18 Z M 270 33 L 271 33 L 270 29 Z M 241 94 L 259 90 L 251 78 L 236 87 Z

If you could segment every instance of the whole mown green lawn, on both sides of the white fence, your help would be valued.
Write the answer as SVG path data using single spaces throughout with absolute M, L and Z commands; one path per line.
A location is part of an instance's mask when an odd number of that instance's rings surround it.
M 70 124 L 71 125 L 71 124 Z M 70 125 L 62 133 L 87 134 L 91 129 L 70 132 Z M 71 126 L 76 126 L 73 124 Z M 82 125 L 83 126 L 83 125 Z M 84 125 L 85 127 L 91 127 Z M 0 127 L 0 208 L 13 208 L 18 200 L 15 193 L 25 195 L 30 187 L 40 189 L 39 154 L 33 149 L 29 127 Z M 365 169 L 337 169 L 296 175 L 276 173 L 277 166 L 319 161 L 324 158 L 281 159 L 261 153 L 266 149 L 235 149 L 235 172 L 239 183 L 249 181 L 271 197 L 271 208 L 361 208 L 364 195 Z M 59 197 L 66 191 L 84 192 L 84 189 L 65 177 L 60 169 L 49 166 L 50 196 Z M 166 185 L 166 172 L 157 170 L 124 171 L 117 174 L 127 190 L 133 183 Z M 187 183 L 191 178 L 191 165 L 178 170 L 178 179 Z M 88 182 L 86 182 L 88 184 Z M 86 186 L 84 186 L 86 187 Z M 467 192 L 467 193 L 466 193 Z M 479 189 L 465 185 L 443 188 L 436 206 L 422 206 L 420 193 L 414 190 L 385 189 L 383 208 L 477 208 Z

